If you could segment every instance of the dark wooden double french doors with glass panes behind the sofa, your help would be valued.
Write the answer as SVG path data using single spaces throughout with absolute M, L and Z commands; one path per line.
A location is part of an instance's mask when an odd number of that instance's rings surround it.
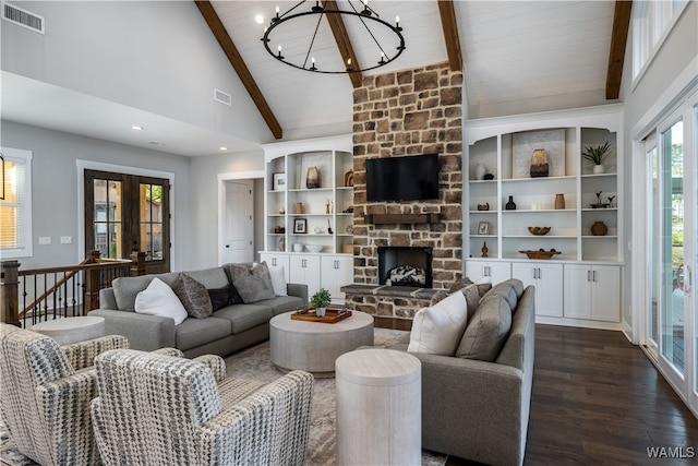
M 170 270 L 169 180 L 85 170 L 85 253 L 129 259 L 145 252 L 146 273 Z

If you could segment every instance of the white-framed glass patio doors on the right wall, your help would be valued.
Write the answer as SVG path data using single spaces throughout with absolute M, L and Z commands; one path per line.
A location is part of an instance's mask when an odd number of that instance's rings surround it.
M 645 345 L 698 413 L 698 104 L 696 94 L 645 141 L 648 190 Z

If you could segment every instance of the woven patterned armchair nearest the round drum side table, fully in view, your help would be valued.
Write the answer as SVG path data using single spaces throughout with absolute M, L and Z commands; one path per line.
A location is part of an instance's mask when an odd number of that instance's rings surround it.
M 264 384 L 225 379 L 216 356 L 202 363 L 136 350 L 107 351 L 95 367 L 93 423 L 107 465 L 303 464 L 308 372 Z

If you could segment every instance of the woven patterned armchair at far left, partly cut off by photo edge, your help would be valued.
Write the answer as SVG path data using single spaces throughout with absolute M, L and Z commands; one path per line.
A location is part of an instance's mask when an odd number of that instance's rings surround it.
M 0 409 L 17 450 L 44 465 L 98 465 L 89 417 L 95 356 L 128 348 L 110 335 L 60 347 L 48 336 L 0 323 Z

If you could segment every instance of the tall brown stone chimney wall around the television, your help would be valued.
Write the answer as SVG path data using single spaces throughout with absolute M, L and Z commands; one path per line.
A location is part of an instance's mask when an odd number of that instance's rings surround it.
M 366 202 L 366 159 L 438 154 L 440 199 Z M 434 288 L 462 270 L 462 73 L 448 63 L 363 79 L 353 92 L 354 283 L 378 285 L 380 246 L 432 247 Z M 441 214 L 436 224 L 373 225 L 368 214 Z

